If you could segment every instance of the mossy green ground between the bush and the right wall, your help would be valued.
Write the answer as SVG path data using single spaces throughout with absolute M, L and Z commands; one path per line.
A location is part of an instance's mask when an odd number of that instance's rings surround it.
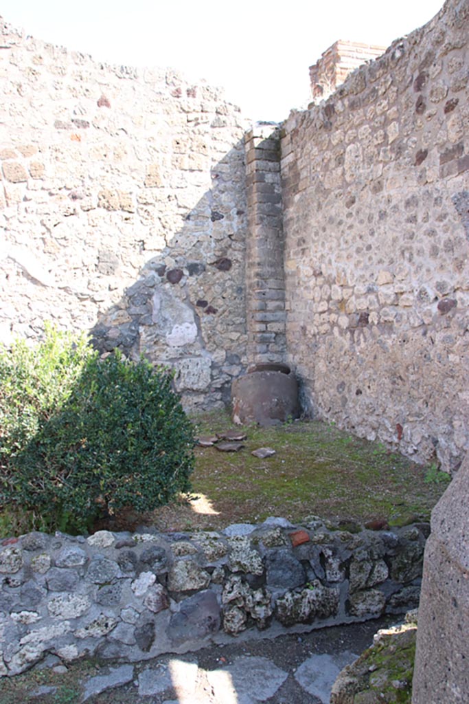
M 239 429 L 224 413 L 193 420 L 199 436 Z M 242 429 L 247 439 L 237 453 L 196 447 L 191 498 L 142 522 L 151 520 L 160 529 L 217 529 L 272 515 L 295 523 L 319 515 L 405 524 L 428 520 L 446 488 L 442 472 L 320 421 Z M 251 454 L 265 446 L 276 454 L 264 460 Z

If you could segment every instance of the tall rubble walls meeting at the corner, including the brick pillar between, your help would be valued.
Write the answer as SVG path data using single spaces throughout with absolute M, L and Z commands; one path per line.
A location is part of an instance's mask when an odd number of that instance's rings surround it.
M 286 362 L 305 412 L 455 472 L 469 450 L 468 0 L 255 125 L 171 70 L 2 23 L 0 339 L 44 320 L 221 408 Z M 278 142 L 280 141 L 280 146 Z

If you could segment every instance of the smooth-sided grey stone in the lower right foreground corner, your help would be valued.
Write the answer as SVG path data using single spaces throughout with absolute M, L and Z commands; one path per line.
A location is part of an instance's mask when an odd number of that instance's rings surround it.
M 467 506 L 469 455 L 432 513 L 418 614 L 413 704 L 453 701 L 469 691 Z M 435 643 L 439 643 L 435 648 Z

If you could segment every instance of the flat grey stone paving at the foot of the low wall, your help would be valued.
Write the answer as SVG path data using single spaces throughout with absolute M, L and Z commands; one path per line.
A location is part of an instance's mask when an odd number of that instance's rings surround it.
M 81 694 L 77 692 L 73 704 L 329 704 L 342 667 L 371 645 L 375 632 L 389 622 L 380 619 L 257 641 L 238 638 L 229 645 L 133 665 L 101 662 L 96 676 L 87 679 L 79 676 L 78 664 L 70 665 L 70 672 L 62 665 L 65 673 L 60 672 L 59 682 L 44 681 L 38 688 L 36 680 L 24 700 L 49 704 L 60 694 L 60 684 L 70 687 L 68 675 L 77 668 Z M 52 672 L 57 661 L 49 656 L 46 671 Z

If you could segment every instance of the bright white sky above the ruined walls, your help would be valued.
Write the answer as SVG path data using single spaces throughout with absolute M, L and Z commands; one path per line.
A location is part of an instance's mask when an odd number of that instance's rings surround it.
M 221 85 L 255 120 L 309 101 L 309 65 L 337 39 L 389 46 L 443 0 L 1 0 L 14 27 L 96 61 L 172 66 Z

